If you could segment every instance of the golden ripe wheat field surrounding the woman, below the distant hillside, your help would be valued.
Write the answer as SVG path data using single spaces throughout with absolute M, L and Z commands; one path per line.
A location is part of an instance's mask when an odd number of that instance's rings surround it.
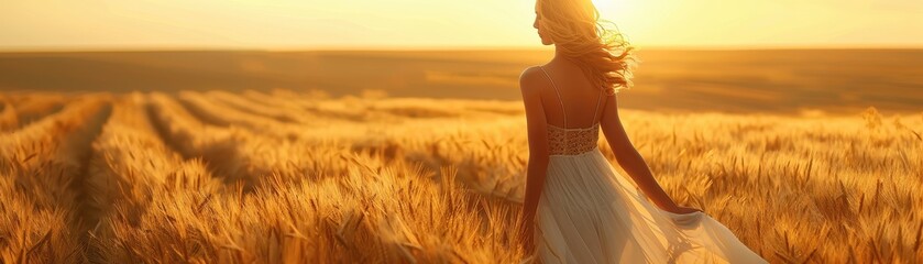
M 277 89 L 0 105 L 0 263 L 524 257 L 516 101 Z M 668 194 L 771 263 L 923 262 L 921 113 L 622 114 Z

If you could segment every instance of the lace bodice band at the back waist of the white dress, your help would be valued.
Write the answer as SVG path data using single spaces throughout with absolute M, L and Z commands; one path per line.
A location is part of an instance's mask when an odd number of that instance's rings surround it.
M 598 145 L 600 123 L 590 128 L 564 129 L 548 124 L 548 150 L 551 155 L 576 155 Z

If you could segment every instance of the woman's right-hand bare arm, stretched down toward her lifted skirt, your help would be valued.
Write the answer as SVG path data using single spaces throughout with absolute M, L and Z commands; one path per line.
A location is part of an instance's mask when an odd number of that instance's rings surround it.
M 694 208 L 677 206 L 673 199 L 667 195 L 667 191 L 663 191 L 663 188 L 657 184 L 657 179 L 653 178 L 653 175 L 647 166 L 644 157 L 641 157 L 641 154 L 638 153 L 638 150 L 635 148 L 631 141 L 628 140 L 627 133 L 625 133 L 625 128 L 622 125 L 622 120 L 618 118 L 618 102 L 616 96 L 606 97 L 601 122 L 603 134 L 605 134 L 606 141 L 609 143 L 612 151 L 615 153 L 615 160 L 618 162 L 618 165 L 628 173 L 628 176 L 638 184 L 638 187 L 645 193 L 645 195 L 650 197 L 651 201 L 653 201 L 657 207 L 664 211 L 674 213 L 689 213 L 697 211 L 697 209 Z

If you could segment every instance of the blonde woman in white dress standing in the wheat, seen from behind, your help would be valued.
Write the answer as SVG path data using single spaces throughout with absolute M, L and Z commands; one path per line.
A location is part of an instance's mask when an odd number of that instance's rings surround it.
M 534 26 L 556 53 L 519 80 L 529 141 L 527 261 L 765 263 L 655 180 L 618 118 L 615 92 L 630 86 L 631 48 L 602 26 L 591 0 L 538 0 Z M 600 152 L 600 129 L 637 188 Z

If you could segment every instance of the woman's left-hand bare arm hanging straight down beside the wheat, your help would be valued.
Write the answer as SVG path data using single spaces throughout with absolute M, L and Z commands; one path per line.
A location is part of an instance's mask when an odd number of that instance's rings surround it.
M 523 230 L 527 250 L 531 250 L 532 221 L 538 200 L 545 188 L 548 169 L 548 128 L 541 106 L 541 88 L 547 86 L 537 68 L 528 68 L 519 76 L 519 90 L 526 108 L 526 127 L 529 141 L 529 162 L 526 170 L 526 197 L 523 202 Z

